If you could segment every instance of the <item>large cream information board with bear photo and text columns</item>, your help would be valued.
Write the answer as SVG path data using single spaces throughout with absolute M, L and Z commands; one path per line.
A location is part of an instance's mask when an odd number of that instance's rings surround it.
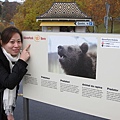
M 25 98 L 119 120 L 120 35 L 23 31 Z

